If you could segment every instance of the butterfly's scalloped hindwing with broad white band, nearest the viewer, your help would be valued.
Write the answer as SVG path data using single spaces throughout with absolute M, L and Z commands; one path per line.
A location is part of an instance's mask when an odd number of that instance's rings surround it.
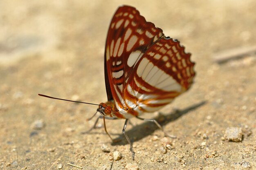
M 124 92 L 127 108 L 153 112 L 186 91 L 195 76 L 190 56 L 177 40 L 157 41 L 140 58 L 128 79 Z

